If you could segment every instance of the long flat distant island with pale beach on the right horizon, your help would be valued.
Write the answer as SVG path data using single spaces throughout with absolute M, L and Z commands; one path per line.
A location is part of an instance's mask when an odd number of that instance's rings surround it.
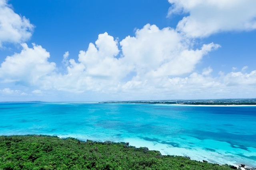
M 136 101 L 106 101 L 99 103 L 120 104 L 185 104 L 185 105 L 256 105 L 254 99 L 208 99 L 208 100 L 136 100 Z

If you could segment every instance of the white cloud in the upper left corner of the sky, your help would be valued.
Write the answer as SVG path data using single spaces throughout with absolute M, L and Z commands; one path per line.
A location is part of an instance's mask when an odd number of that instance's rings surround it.
M 16 14 L 6 0 L 0 0 L 0 47 L 3 43 L 22 43 L 32 35 L 34 26 Z

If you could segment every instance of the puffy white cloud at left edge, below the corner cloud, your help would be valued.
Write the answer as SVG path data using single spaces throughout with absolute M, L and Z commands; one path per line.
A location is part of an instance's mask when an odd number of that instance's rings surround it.
M 15 53 L 6 57 L 0 67 L 2 82 L 14 82 L 24 86 L 42 85 L 42 78 L 52 74 L 55 63 L 49 63 L 50 53 L 40 45 L 33 44 L 29 48 L 26 43 L 22 44 L 21 53 Z

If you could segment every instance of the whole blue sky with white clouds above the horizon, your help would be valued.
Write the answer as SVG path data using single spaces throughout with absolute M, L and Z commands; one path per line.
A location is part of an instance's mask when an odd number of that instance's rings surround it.
M 256 98 L 255 0 L 0 0 L 0 101 Z

